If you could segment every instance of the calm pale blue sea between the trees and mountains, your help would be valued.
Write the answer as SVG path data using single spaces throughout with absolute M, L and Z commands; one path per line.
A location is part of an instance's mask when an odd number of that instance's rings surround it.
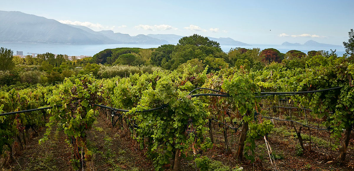
M 161 45 L 144 45 L 144 44 L 103 44 L 103 45 L 74 45 L 74 44 L 42 44 L 42 43 L 0 43 L 0 47 L 5 47 L 7 49 L 11 49 L 13 54 L 16 55 L 16 51 L 22 51 L 23 55 L 32 54 L 32 53 L 46 53 L 51 52 L 54 54 L 66 54 L 69 56 L 93 56 L 96 53 L 104 50 L 104 49 L 113 49 L 117 47 L 139 47 L 139 48 L 155 48 Z M 337 50 L 336 53 L 338 56 L 342 56 L 345 53 L 344 47 L 314 47 L 314 46 L 283 46 L 283 45 L 247 45 L 247 46 L 239 46 L 239 45 L 221 45 L 221 49 L 224 52 L 229 52 L 230 49 L 236 47 L 243 47 L 246 49 L 259 48 L 261 50 L 267 48 L 274 48 L 279 50 L 282 53 L 286 53 L 289 50 L 299 50 L 304 53 L 312 50 L 325 50 L 329 51 Z

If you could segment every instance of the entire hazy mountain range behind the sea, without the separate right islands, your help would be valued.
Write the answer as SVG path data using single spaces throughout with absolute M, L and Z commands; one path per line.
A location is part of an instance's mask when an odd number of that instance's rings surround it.
M 95 32 L 78 25 L 63 24 L 18 11 L 0 11 L 0 42 L 28 42 L 55 44 L 177 44 L 183 36 L 175 34 L 129 34 L 112 30 Z M 245 46 L 231 38 L 211 38 L 221 45 Z

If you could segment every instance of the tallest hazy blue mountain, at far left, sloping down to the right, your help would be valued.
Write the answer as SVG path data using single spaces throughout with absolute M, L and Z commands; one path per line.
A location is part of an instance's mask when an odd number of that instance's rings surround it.
M 34 42 L 58 44 L 109 44 L 114 40 L 54 19 L 18 11 L 0 11 L 1 42 Z

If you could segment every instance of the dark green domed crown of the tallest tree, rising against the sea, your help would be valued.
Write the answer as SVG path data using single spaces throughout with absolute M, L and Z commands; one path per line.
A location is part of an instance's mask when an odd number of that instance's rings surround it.
M 207 37 L 203 37 L 198 34 L 193 34 L 192 36 L 183 37 L 179 39 L 178 43 L 180 45 L 194 45 L 194 46 L 209 46 L 220 48 L 220 44 L 216 41 L 210 40 Z

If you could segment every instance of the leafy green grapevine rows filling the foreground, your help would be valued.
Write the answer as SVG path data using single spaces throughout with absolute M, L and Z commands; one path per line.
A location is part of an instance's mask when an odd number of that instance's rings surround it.
M 1 167 L 18 164 L 14 154 L 28 147 L 30 137 L 45 144 L 54 131 L 66 135 L 60 141 L 71 148 L 72 169 L 89 170 L 97 155 L 89 133 L 102 129 L 98 120 L 108 120 L 145 154 L 148 170 L 217 170 L 212 156 L 219 153 L 227 158 L 224 170 L 314 169 L 289 163 L 279 150 L 319 157 L 320 165 L 335 170 L 354 168 L 350 59 L 315 56 L 304 69 L 197 69 L 111 79 L 79 75 L 57 85 L 3 90 Z

